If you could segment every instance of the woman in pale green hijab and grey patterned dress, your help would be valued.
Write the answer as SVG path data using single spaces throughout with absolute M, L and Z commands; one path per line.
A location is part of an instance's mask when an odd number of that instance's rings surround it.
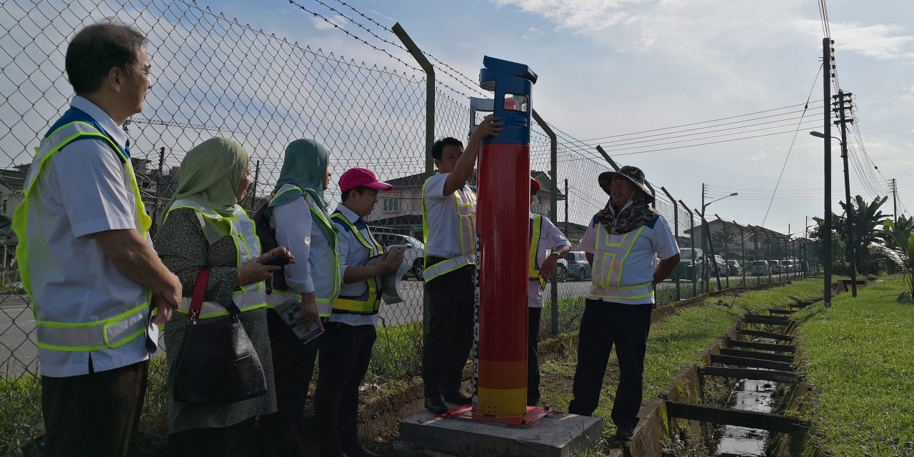
M 165 326 L 170 455 L 251 455 L 254 418 L 276 410 L 264 281 L 278 267 L 260 260 L 287 253 L 277 248 L 260 254 L 253 221 L 238 206 L 250 185 L 248 175 L 248 153 L 238 143 L 212 138 L 191 149 L 181 161 L 177 192 L 165 206 L 155 239 L 163 263 L 185 291 L 177 316 Z M 173 397 L 190 297 L 197 273 L 205 268 L 210 272 L 197 325 L 224 324 L 232 319 L 227 308 L 238 307 L 266 377 L 267 393 L 260 397 L 206 407 L 184 405 Z

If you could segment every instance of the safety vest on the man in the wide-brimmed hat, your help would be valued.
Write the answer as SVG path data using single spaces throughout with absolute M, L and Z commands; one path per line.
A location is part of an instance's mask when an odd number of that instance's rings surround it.
M 644 226 L 622 235 L 611 235 L 604 228 L 596 232 L 596 250 L 593 255 L 593 274 L 590 298 L 637 300 L 654 295 L 652 281 L 643 284 L 622 284 L 622 268 L 632 252 L 634 242 Z

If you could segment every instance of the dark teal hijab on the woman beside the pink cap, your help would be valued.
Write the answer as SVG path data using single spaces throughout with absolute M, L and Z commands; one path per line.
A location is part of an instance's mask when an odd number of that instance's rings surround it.
M 314 203 L 327 213 L 327 201 L 324 199 L 324 178 L 330 154 L 327 149 L 314 140 L 295 140 L 286 146 L 285 162 L 282 163 L 280 179 L 276 182 L 276 191 L 284 184 L 299 186 L 314 200 Z M 280 207 L 303 194 L 298 191 L 284 192 L 270 202 L 270 207 Z

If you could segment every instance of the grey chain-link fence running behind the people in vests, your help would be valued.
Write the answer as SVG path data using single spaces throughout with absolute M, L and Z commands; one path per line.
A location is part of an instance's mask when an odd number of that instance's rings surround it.
M 0 61 L 4 62 L 0 64 L 0 454 L 26 452 L 30 440 L 41 435 L 43 428 L 34 318 L 29 299 L 16 282 L 16 238 L 10 216 L 22 200 L 33 148 L 49 124 L 69 107 L 72 90 L 63 71 L 69 39 L 81 27 L 105 18 L 135 27 L 149 39 L 154 87 L 143 113 L 133 116 L 125 130 L 132 139 L 133 166 L 143 201 L 154 219 L 175 193 L 181 160 L 195 144 L 223 136 L 248 150 L 253 185 L 242 205 L 254 209 L 270 196 L 286 144 L 314 138 L 331 151 L 333 175 L 363 166 L 396 186 L 380 196 L 375 212 L 367 218 L 369 225 L 384 243 L 406 242 L 420 248 L 420 193 L 426 165 L 425 75 L 411 64 L 400 58 L 394 58 L 390 68 L 357 63 L 185 0 L 5 2 L 0 8 Z M 389 31 L 374 24 L 378 27 L 371 26 L 372 30 Z M 465 139 L 468 96 L 484 92 L 472 86 L 473 80 L 455 75 L 451 67 L 433 60 L 453 79 L 450 84 L 442 82 L 436 91 L 436 138 Z M 553 184 L 549 179 L 550 140 L 539 126 L 533 130 L 530 150 L 531 170 L 544 185 L 534 210 L 551 218 L 574 243 L 572 253 L 558 265 L 558 303 L 549 299 L 552 284 L 545 292 L 547 310 L 541 335 L 546 336 L 552 333 L 548 316 L 553 306 L 558 306 L 560 332 L 574 330 L 579 322 L 591 271 L 578 242 L 590 219 L 606 204 L 597 176 L 611 168 L 589 146 L 561 133 L 555 183 L 558 214 L 553 215 L 549 214 Z M 335 207 L 340 192 L 335 179 L 331 181 L 327 196 Z M 657 196 L 656 207 L 671 226 L 678 221 L 677 239 L 680 246 L 688 247 L 693 233 L 688 221 L 695 227 L 700 221 L 666 196 Z M 734 240 L 734 230 L 740 227 L 743 232 Z M 787 245 L 772 242 L 778 234 L 770 230 L 730 222 L 712 222 L 711 229 L 717 237 L 715 254 L 738 260 L 746 270 L 745 278 L 742 273 L 722 270 L 725 287 L 734 282 L 781 281 L 799 271 L 799 267 L 770 268 L 754 275 L 752 260 L 801 258 L 788 254 Z M 740 248 L 740 242 L 751 248 Z M 721 248 L 724 252 L 719 252 Z M 384 329 L 379 333 L 368 384 L 420 374 L 421 257 L 421 249 L 416 249 L 407 258 L 414 268 L 405 281 L 405 302 L 382 307 Z M 708 271 L 707 260 L 712 258 L 699 254 L 698 261 L 690 259 L 676 269 L 674 280 L 658 285 L 659 304 L 717 288 L 716 281 L 703 276 Z M 165 433 L 165 377 L 164 357 L 155 356 L 142 429 L 158 438 Z

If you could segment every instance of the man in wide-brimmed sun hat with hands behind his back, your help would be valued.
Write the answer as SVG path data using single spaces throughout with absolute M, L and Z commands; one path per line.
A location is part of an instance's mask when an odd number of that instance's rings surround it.
M 634 166 L 598 178 L 609 194 L 580 240 L 593 266 L 590 293 L 580 319 L 578 367 L 569 412 L 590 416 L 612 345 L 619 358 L 619 386 L 612 405 L 616 440 L 632 440 L 643 390 L 644 354 L 654 308 L 654 284 L 679 263 L 679 247 L 669 224 L 651 207 L 654 197 L 644 173 Z M 659 263 L 655 263 L 656 258 Z

